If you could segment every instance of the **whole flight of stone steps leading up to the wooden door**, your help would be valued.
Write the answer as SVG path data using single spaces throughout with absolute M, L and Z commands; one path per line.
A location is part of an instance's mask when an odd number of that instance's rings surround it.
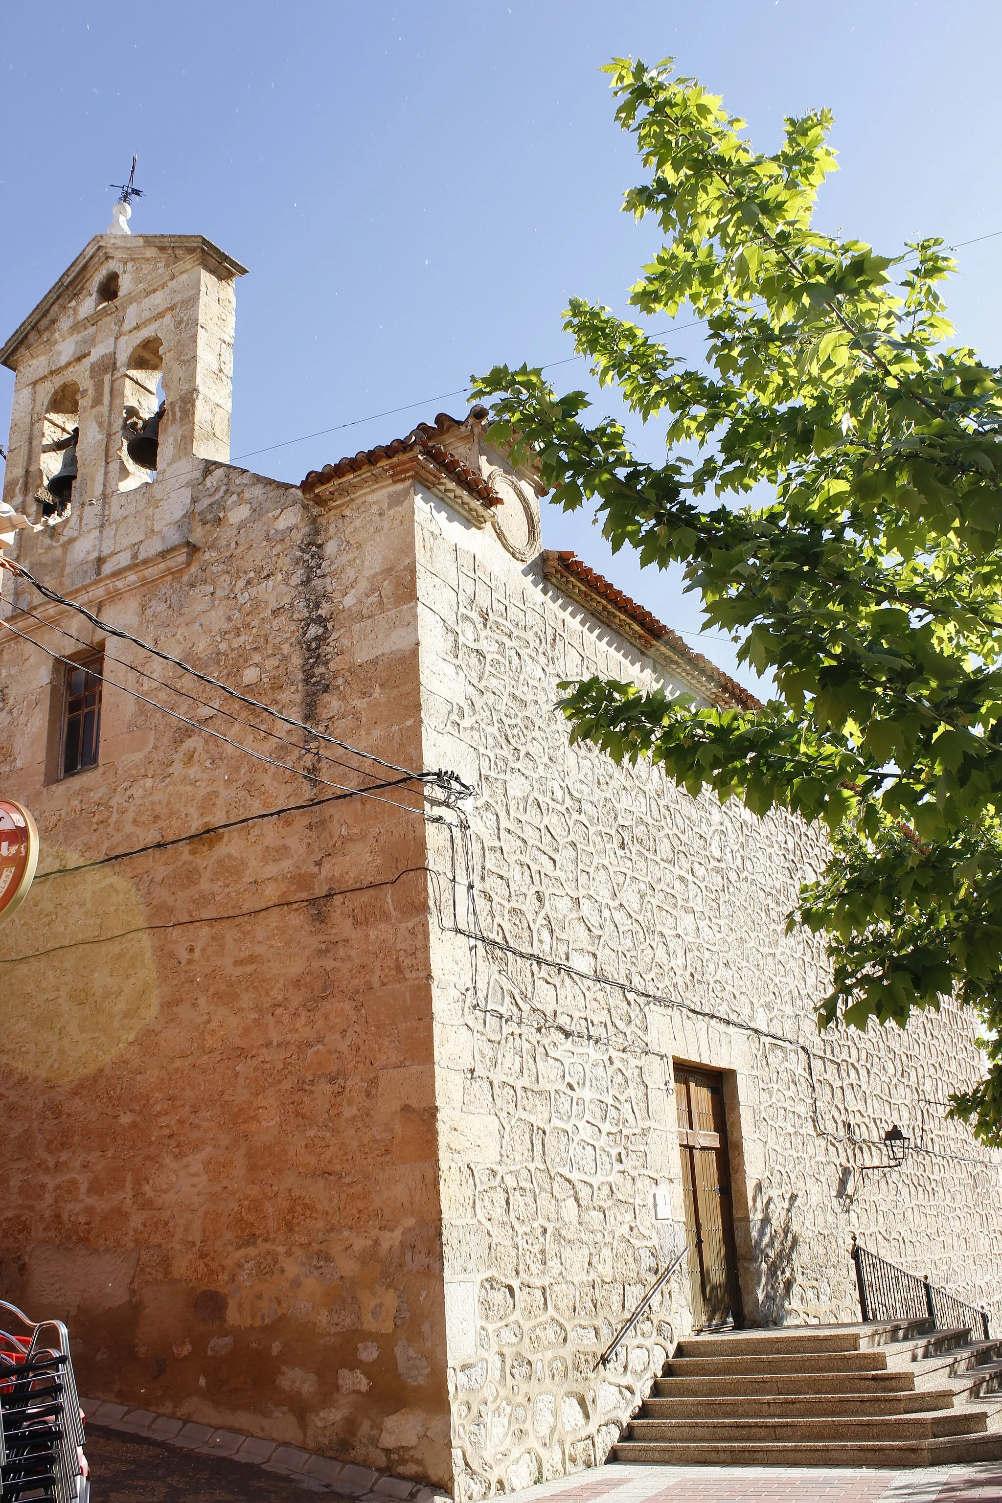
M 1002 1341 L 931 1321 L 681 1341 L 616 1461 L 930 1467 L 1002 1459 Z

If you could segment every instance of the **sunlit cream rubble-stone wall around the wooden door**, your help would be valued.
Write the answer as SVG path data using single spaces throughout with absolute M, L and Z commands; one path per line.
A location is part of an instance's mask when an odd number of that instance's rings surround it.
M 858 1318 L 852 1231 L 972 1296 L 1002 1290 L 1002 1159 L 943 1118 L 978 1072 L 973 1021 L 817 1036 L 823 945 L 786 933 L 817 833 L 571 747 L 559 681 L 649 684 L 653 664 L 430 496 L 418 595 L 425 761 L 479 791 L 469 839 L 430 836 L 460 1494 L 604 1459 L 690 1329 L 676 1278 L 596 1368 L 684 1235 L 675 1060 L 724 1072 L 750 1323 Z M 891 1121 L 906 1166 L 861 1175 Z M 652 1220 L 655 1186 L 675 1222 Z

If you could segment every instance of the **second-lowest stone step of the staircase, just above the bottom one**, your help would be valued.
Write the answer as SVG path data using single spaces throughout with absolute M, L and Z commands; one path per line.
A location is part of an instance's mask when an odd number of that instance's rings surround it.
M 635 1419 L 626 1426 L 631 1441 L 659 1444 L 825 1444 L 846 1441 L 936 1440 L 942 1435 L 975 1435 L 987 1431 L 982 1410 L 940 1410 L 922 1414 L 870 1419 Z

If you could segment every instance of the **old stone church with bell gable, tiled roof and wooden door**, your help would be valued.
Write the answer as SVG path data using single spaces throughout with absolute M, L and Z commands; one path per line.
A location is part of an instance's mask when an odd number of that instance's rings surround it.
M 461 1500 L 604 1461 L 694 1330 L 859 1321 L 853 1234 L 999 1333 L 976 1019 L 819 1034 L 822 834 L 553 708 L 751 696 L 482 407 L 233 466 L 245 268 L 116 231 L 0 350 L 2 1297 L 84 1395 Z

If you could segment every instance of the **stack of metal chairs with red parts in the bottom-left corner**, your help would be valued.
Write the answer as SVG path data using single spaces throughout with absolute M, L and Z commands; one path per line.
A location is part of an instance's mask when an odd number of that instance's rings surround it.
M 14 1332 L 3 1329 L 11 1317 Z M 0 1300 L 0 1503 L 87 1503 L 83 1446 L 65 1324 L 36 1324 Z

